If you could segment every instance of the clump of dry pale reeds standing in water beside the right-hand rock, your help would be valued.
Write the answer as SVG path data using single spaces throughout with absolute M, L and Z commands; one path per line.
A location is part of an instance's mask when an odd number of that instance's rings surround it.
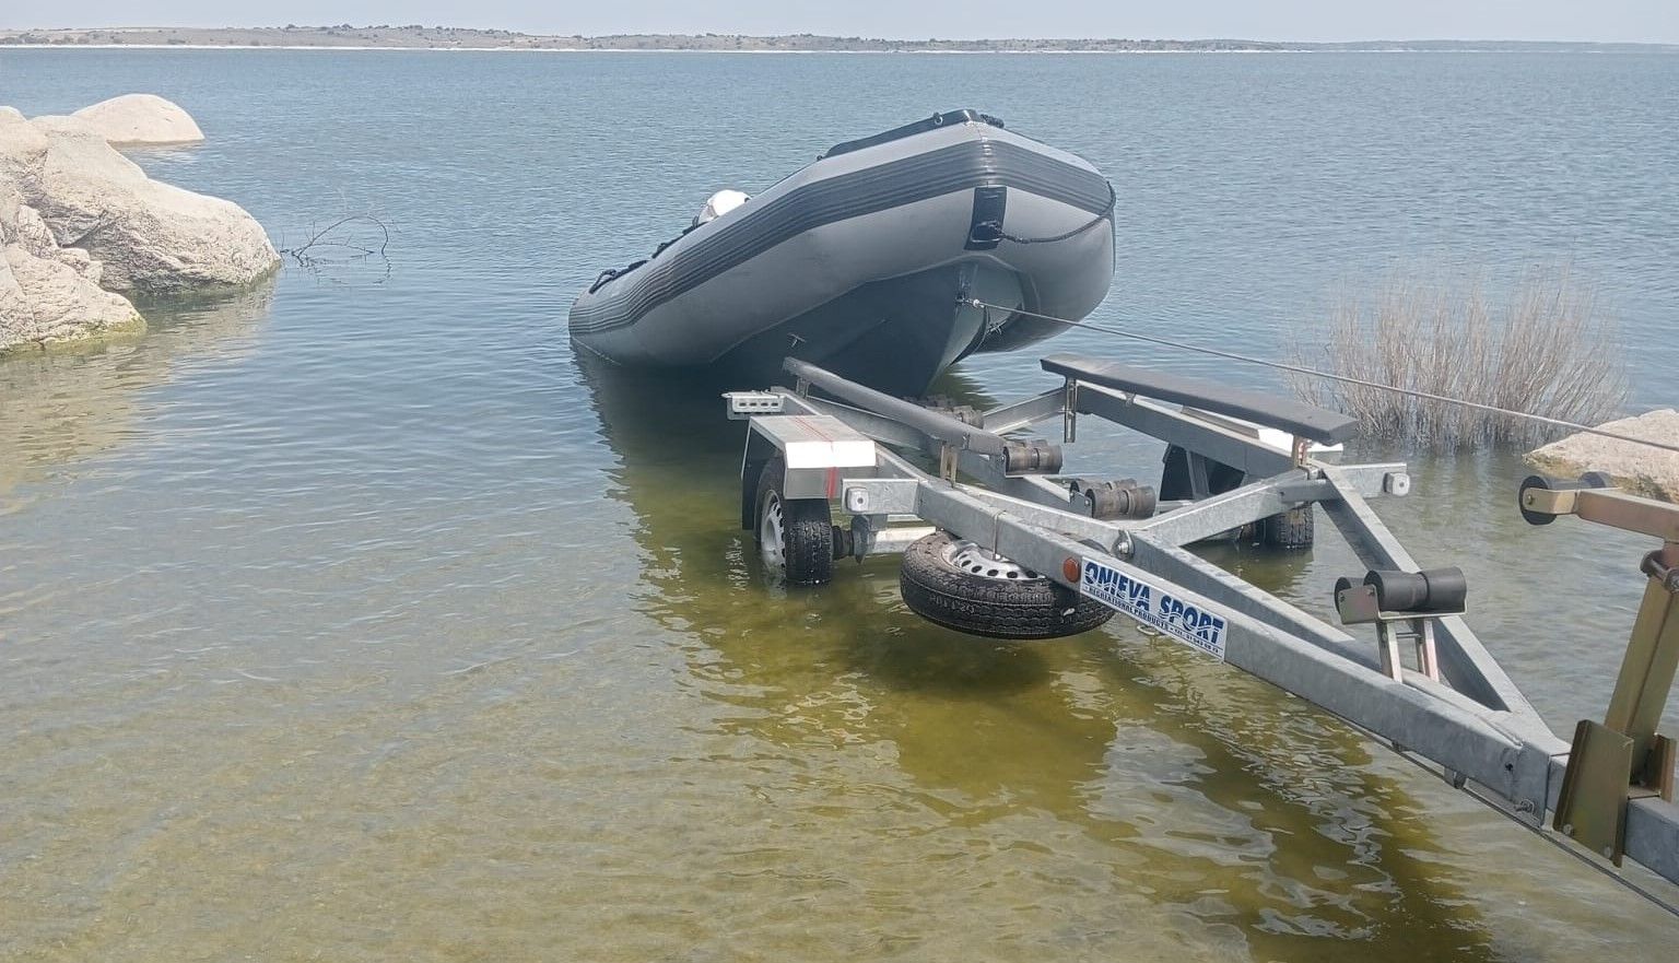
M 1580 424 L 1617 416 L 1627 374 L 1615 324 L 1567 268 L 1530 273 L 1494 305 L 1481 284 L 1395 277 L 1343 294 L 1289 346 L 1303 367 Z M 1367 438 L 1422 448 L 1533 448 L 1565 431 L 1395 391 L 1291 374 L 1303 399 L 1360 419 Z

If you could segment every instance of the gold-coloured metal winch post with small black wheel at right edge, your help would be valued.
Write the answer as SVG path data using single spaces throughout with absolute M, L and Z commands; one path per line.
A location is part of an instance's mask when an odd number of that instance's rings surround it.
M 1679 666 L 1679 505 L 1629 495 L 1607 475 L 1578 482 L 1533 475 L 1518 493 L 1521 517 L 1548 525 L 1561 515 L 1654 535 L 1662 547 L 1644 555 L 1644 602 L 1602 723 L 1580 720 L 1568 752 L 1555 829 L 1620 866 L 1627 846 L 1627 804 L 1674 799 L 1676 742 L 1655 731 L 1674 668 Z

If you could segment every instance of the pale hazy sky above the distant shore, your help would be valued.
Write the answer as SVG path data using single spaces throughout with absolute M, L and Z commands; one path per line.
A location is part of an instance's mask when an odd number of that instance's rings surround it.
M 0 27 L 425 23 L 526 34 L 1679 44 L 1679 0 L 0 0 Z

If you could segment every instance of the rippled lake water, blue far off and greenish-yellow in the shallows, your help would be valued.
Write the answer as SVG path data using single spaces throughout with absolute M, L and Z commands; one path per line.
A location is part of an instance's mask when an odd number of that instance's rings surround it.
M 1635 408 L 1672 404 L 1679 59 L 0 52 L 29 114 L 128 91 L 208 134 L 136 154 L 154 176 L 280 245 L 371 211 L 390 263 L 0 361 L 0 958 L 1671 953 L 1671 916 L 1120 619 L 965 639 L 892 560 L 769 587 L 739 424 L 579 366 L 564 314 L 709 191 L 974 106 L 1113 178 L 1096 320 L 1276 354 L 1395 268 L 1567 262 Z M 987 356 L 944 391 L 1051 384 Z M 1157 471 L 1081 435 L 1103 475 Z M 1380 510 L 1466 567 L 1567 731 L 1607 705 L 1649 545 L 1526 527 L 1521 475 L 1424 460 Z M 1355 570 L 1331 542 L 1222 559 L 1320 612 Z

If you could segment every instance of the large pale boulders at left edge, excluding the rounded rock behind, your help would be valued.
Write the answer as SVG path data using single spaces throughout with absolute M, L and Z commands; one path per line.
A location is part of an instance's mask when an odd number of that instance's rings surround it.
M 0 351 L 131 331 L 121 294 L 247 285 L 280 260 L 238 205 L 153 181 L 92 121 L 10 107 L 0 248 Z

